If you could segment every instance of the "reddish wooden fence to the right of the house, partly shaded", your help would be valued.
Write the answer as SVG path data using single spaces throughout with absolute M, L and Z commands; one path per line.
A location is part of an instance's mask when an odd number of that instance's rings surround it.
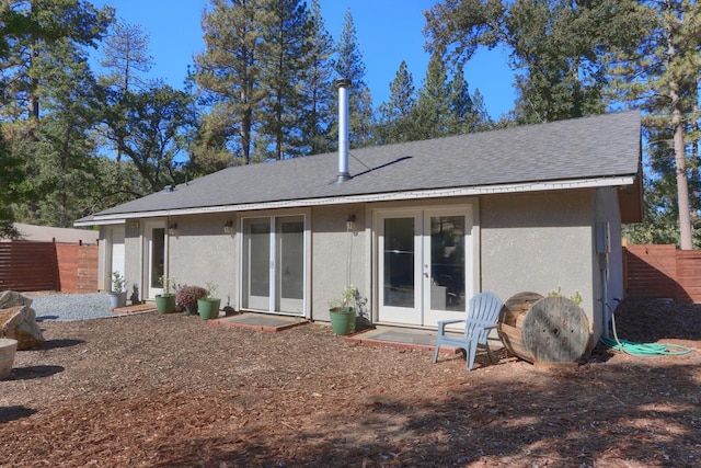
M 627 297 L 701 303 L 701 250 L 674 244 L 627 246 L 623 253 Z

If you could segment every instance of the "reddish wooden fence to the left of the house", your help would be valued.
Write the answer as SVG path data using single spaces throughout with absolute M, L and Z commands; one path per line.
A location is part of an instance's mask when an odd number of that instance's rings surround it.
M 0 290 L 97 292 L 97 246 L 0 242 Z

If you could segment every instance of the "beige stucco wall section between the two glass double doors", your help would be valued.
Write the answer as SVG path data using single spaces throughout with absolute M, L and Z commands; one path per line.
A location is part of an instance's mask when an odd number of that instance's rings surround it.
M 353 232 L 346 231 L 348 215 L 356 217 Z M 370 295 L 365 205 L 314 207 L 311 219 L 311 312 L 314 320 L 329 321 L 329 301 L 341 296 L 347 282 L 359 289 L 361 297 Z

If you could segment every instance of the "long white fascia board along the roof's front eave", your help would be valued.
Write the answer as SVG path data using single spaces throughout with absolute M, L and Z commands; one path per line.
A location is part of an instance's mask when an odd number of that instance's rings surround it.
M 240 205 L 202 206 L 195 208 L 173 208 L 154 212 L 119 213 L 115 215 L 96 215 L 92 225 L 108 224 L 116 220 L 124 222 L 133 218 L 158 218 L 165 216 L 186 216 L 214 213 L 250 212 L 256 209 L 299 208 L 307 206 L 342 205 L 350 203 L 394 202 L 418 198 L 446 198 L 457 196 L 475 196 L 487 194 L 542 192 L 573 189 L 598 189 L 605 186 L 631 185 L 634 175 L 604 178 L 604 179 L 573 179 L 554 182 L 528 182 L 519 184 L 485 185 L 474 187 L 432 189 L 410 192 L 388 192 L 363 195 L 334 196 L 325 198 L 284 199 L 278 202 L 245 203 Z

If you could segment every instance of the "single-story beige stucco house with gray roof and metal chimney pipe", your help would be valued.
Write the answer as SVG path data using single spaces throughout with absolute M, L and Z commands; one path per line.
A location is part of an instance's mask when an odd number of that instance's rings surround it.
M 101 287 L 123 267 L 218 285 L 222 306 L 329 320 L 346 284 L 375 323 L 435 328 L 482 290 L 578 292 L 598 338 L 642 219 L 637 112 L 231 167 L 80 219 Z M 344 128 L 343 114 L 341 128 Z M 343 134 L 343 130 L 342 130 Z

